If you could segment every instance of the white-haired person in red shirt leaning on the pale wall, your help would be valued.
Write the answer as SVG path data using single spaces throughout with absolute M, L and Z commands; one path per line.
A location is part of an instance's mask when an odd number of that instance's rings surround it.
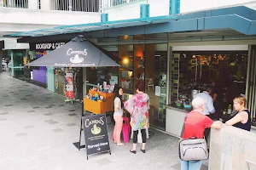
M 184 130 L 182 139 L 190 138 L 204 138 L 205 128 L 216 128 L 220 129 L 222 122 L 217 121 L 213 122 L 208 116 L 202 114 L 205 110 L 204 99 L 196 97 L 192 100 L 193 111 L 190 111 L 186 123 L 184 124 Z M 201 169 L 201 160 L 198 161 L 182 161 L 181 170 L 200 170 Z

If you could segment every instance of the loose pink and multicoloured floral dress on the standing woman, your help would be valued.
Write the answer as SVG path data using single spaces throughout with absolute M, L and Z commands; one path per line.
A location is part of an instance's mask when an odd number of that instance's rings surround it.
M 149 127 L 148 94 L 135 94 L 125 101 L 125 109 L 131 113 L 131 128 L 133 131 Z

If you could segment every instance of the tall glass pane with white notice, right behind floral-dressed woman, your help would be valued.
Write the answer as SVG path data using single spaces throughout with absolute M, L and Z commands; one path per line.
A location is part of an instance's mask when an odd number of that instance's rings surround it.
M 150 126 L 166 129 L 167 43 L 147 44 L 145 88 L 150 99 Z

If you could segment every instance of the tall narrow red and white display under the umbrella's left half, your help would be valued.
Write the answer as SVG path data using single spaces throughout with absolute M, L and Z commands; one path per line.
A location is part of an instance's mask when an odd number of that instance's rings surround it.
M 66 70 L 65 71 L 65 88 L 66 88 L 66 96 L 67 99 L 73 99 L 73 71 Z

